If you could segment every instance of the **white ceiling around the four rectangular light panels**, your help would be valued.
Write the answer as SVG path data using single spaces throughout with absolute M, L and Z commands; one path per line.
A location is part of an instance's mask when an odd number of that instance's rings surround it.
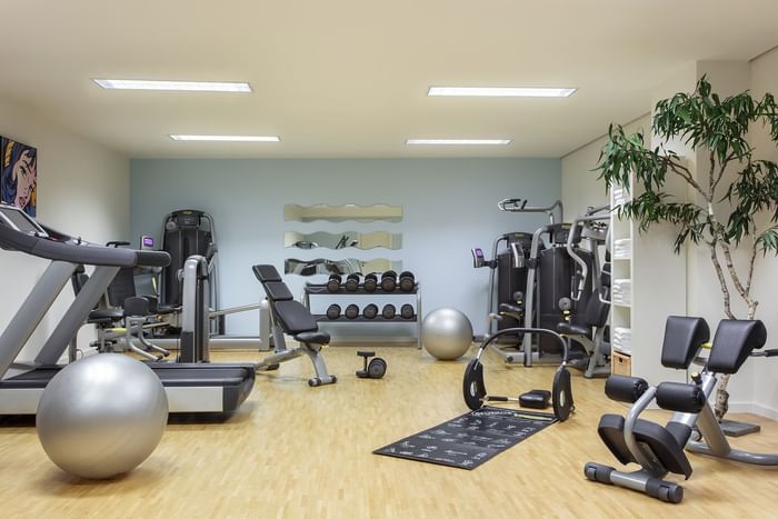
M 132 158 L 561 157 L 646 113 L 675 70 L 778 44 L 776 0 L 0 0 L 0 98 Z M 255 92 L 108 91 L 90 78 L 248 81 Z M 579 91 L 428 98 L 430 86 Z

